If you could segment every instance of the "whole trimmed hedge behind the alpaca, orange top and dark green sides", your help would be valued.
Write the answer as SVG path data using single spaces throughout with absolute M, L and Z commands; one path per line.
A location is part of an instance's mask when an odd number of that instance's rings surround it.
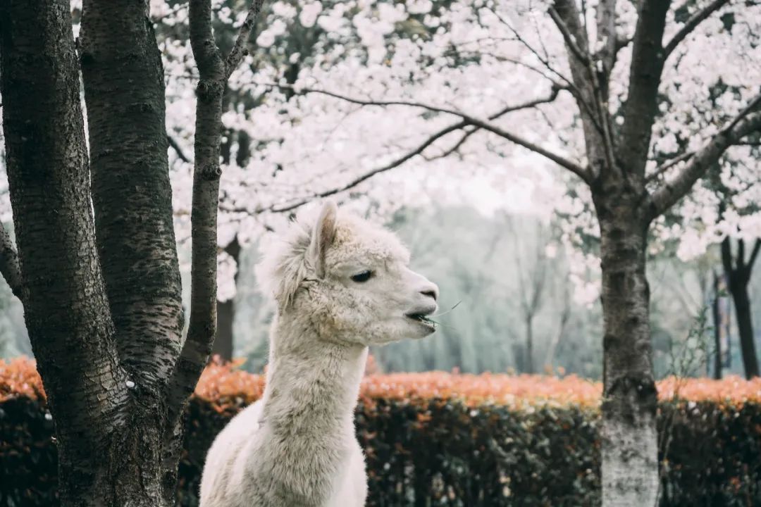
M 179 505 L 263 379 L 210 366 L 187 417 Z M 659 384 L 661 505 L 761 505 L 761 381 Z M 600 385 L 575 377 L 371 375 L 357 410 L 368 505 L 599 505 Z M 56 505 L 53 423 L 33 364 L 0 362 L 0 507 Z

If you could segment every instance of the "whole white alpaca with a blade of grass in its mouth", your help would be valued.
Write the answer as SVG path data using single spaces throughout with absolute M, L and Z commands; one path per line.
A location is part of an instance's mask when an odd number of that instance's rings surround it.
M 434 331 L 438 288 L 387 230 L 326 204 L 257 267 L 275 296 L 263 398 L 217 436 L 201 507 L 361 507 L 353 412 L 368 345 Z

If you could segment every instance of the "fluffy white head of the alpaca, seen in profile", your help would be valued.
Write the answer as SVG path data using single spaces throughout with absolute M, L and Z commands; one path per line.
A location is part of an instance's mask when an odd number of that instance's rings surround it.
M 308 321 L 320 340 L 386 344 L 435 331 L 425 316 L 436 310 L 438 287 L 409 269 L 400 240 L 330 202 L 291 225 L 257 277 L 279 318 Z

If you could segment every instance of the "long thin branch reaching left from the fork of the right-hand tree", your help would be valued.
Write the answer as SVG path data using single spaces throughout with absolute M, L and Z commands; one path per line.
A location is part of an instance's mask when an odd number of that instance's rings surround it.
M 478 128 L 482 128 L 486 131 L 492 132 L 493 134 L 498 135 L 501 138 L 505 138 L 508 141 L 513 142 L 514 144 L 518 144 L 519 146 L 522 146 L 524 148 L 527 148 L 530 151 L 533 151 L 534 153 L 540 154 L 545 158 L 548 158 L 549 160 L 552 160 L 553 162 L 557 163 L 559 166 L 564 167 L 565 169 L 571 171 L 576 176 L 579 176 L 581 179 L 583 179 L 585 182 L 590 182 L 590 176 L 587 173 L 587 170 L 584 170 L 583 167 L 579 166 L 578 164 L 572 162 L 571 160 L 567 160 L 563 157 L 560 157 L 557 154 L 553 154 L 551 151 L 545 150 L 543 147 L 540 147 L 537 144 L 534 144 L 530 141 L 527 141 L 524 138 L 521 138 L 520 136 L 511 134 L 510 132 L 506 132 L 502 128 L 498 127 L 497 125 L 493 125 L 492 123 L 489 123 L 489 120 L 482 120 L 478 119 L 474 116 L 470 116 L 464 112 L 458 111 L 457 109 L 448 109 L 444 107 L 439 106 L 431 106 L 427 103 L 421 103 L 421 102 L 415 102 L 412 100 L 365 100 L 365 99 L 358 99 L 356 97 L 347 97 L 345 95 L 342 95 L 340 93 L 330 92 L 326 90 L 319 90 L 315 88 L 295 88 L 291 87 L 286 84 L 263 84 L 263 86 L 271 86 L 271 87 L 282 87 L 282 88 L 290 88 L 295 90 L 295 93 L 299 94 L 305 94 L 305 93 L 321 93 L 323 95 L 327 95 L 329 97 L 334 97 L 336 99 L 345 100 L 346 102 L 358 104 L 360 106 L 412 106 L 412 107 L 419 107 L 421 109 L 426 109 L 428 111 L 432 112 L 442 112 L 447 113 L 452 116 L 458 116 L 461 119 L 463 119 L 462 122 L 459 122 L 454 125 L 459 125 L 457 128 L 463 128 L 466 125 L 473 125 Z M 543 102 L 544 100 L 540 100 L 540 102 Z M 531 101 L 530 103 L 540 103 L 536 101 Z M 511 110 L 515 109 L 525 109 L 527 106 L 513 106 Z M 453 125 L 451 125 L 453 126 Z M 449 127 L 447 127 L 444 130 L 447 130 Z M 456 130 L 457 128 L 454 128 L 453 130 Z M 453 132 L 452 130 L 447 130 L 447 132 Z M 335 192 L 332 192 L 330 195 L 332 195 Z

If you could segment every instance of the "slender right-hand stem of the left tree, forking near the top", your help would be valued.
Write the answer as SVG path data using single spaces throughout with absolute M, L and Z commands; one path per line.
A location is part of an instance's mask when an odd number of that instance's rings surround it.
M 193 204 L 190 212 L 190 322 L 187 337 L 167 383 L 168 433 L 175 426 L 196 387 L 216 334 L 217 211 L 221 153 L 222 97 L 228 78 L 243 58 L 243 46 L 256 23 L 263 0 L 254 0 L 228 58 L 223 61 L 212 32 L 211 0 L 189 0 L 190 45 L 199 69 L 196 88 L 196 138 L 193 164 Z

